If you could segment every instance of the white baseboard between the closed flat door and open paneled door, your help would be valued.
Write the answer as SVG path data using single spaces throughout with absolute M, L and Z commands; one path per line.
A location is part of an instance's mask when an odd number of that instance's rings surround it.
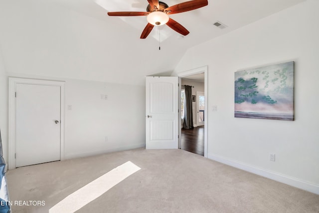
M 132 146 L 125 146 L 125 147 L 116 147 L 116 148 L 111 148 L 106 150 L 96 150 L 96 151 L 83 152 L 83 153 L 72 153 L 72 154 L 65 155 L 64 159 L 67 160 L 67 159 L 73 159 L 73 158 L 83 158 L 83 157 L 101 155 L 101 154 L 111 153 L 111 152 L 120 152 L 120 151 L 126 151 L 131 149 L 138 149 L 143 147 L 145 147 L 145 143 L 132 145 Z

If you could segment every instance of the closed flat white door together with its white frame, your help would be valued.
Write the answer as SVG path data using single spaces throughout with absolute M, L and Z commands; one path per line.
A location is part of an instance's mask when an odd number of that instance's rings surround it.
M 9 169 L 64 158 L 64 82 L 9 78 Z

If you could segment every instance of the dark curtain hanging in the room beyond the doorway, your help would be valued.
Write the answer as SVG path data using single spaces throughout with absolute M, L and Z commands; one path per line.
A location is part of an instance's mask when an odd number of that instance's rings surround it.
M 183 129 L 192 129 L 193 125 L 193 102 L 191 100 L 191 86 L 185 85 L 184 97 L 184 122 Z

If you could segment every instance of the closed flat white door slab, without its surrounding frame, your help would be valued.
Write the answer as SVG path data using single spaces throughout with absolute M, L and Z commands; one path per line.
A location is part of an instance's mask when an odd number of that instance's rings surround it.
M 60 160 L 61 89 L 16 84 L 15 167 Z

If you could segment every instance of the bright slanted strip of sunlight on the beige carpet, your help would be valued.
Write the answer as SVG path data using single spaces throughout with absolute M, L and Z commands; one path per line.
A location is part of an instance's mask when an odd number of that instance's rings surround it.
M 128 161 L 72 193 L 52 207 L 49 213 L 74 213 L 140 169 Z

